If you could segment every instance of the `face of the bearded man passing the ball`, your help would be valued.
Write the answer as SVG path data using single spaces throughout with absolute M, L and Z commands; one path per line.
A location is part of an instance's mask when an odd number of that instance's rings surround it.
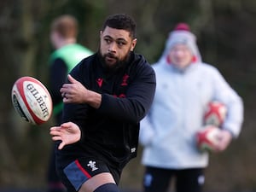
M 100 53 L 108 67 L 115 67 L 125 61 L 137 43 L 137 39 L 132 39 L 129 32 L 108 26 L 101 32 L 100 38 Z

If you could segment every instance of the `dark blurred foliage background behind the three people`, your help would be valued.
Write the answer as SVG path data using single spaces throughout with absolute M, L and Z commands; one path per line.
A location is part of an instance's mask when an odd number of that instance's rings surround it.
M 137 52 L 157 61 L 168 33 L 188 22 L 198 38 L 203 60 L 219 71 L 244 100 L 241 136 L 222 154 L 212 154 L 208 191 L 256 190 L 254 0 L 1 0 L 0 2 L 0 189 L 45 188 L 49 126 L 28 125 L 15 113 L 10 92 L 15 80 L 33 76 L 48 84 L 49 24 L 55 16 L 79 20 L 79 43 L 96 51 L 105 17 L 127 13 L 137 20 Z M 140 152 L 142 151 L 142 148 Z M 125 168 L 120 186 L 141 189 L 143 166 L 137 159 Z

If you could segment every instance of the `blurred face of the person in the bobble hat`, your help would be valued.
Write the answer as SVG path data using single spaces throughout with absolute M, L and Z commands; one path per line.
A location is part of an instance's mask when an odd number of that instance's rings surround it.
M 189 66 L 193 58 L 191 50 L 184 44 L 174 45 L 168 56 L 172 64 L 180 69 Z

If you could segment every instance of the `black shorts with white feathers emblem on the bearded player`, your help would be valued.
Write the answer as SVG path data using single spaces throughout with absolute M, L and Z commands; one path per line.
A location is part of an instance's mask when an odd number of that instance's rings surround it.
M 79 191 L 82 184 L 90 177 L 102 172 L 110 172 L 113 179 L 118 184 L 120 170 L 109 166 L 102 160 L 94 158 L 79 158 L 67 165 L 63 170 L 59 170 L 61 182 L 67 187 L 68 192 Z

